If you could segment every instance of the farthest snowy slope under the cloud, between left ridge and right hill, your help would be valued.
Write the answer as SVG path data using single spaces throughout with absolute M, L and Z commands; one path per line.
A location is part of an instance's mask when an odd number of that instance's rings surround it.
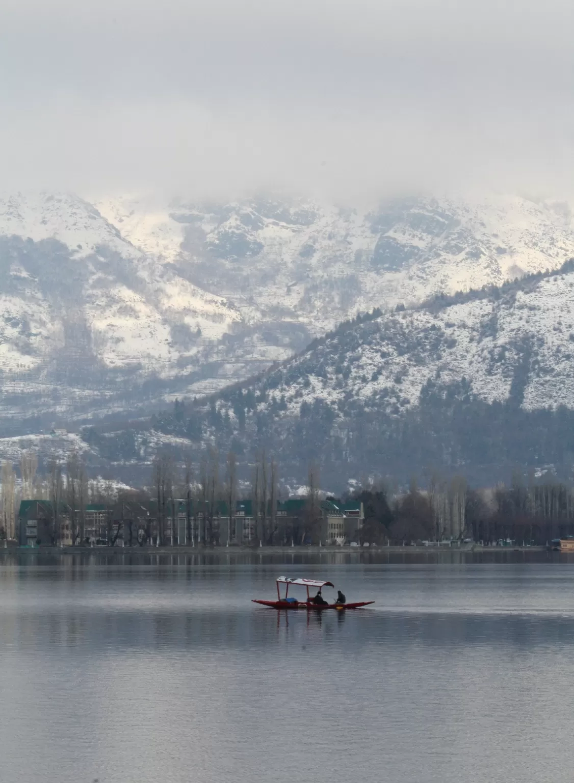
M 568 205 L 515 196 L 410 199 L 369 213 L 265 199 L 104 206 L 134 244 L 155 248 L 247 319 L 301 322 L 310 334 L 374 307 L 555 269 L 574 255 Z

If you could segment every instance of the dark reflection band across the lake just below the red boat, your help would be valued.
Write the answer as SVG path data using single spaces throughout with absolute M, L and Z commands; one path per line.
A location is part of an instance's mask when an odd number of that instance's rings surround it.
M 254 610 L 258 611 L 258 610 Z M 264 611 L 264 610 L 263 610 Z M 124 650 L 161 648 L 189 649 L 275 648 L 278 639 L 273 633 L 304 634 L 320 630 L 317 644 L 345 625 L 351 633 L 360 635 L 363 650 L 376 649 L 381 644 L 420 645 L 467 648 L 482 644 L 500 648 L 536 650 L 548 645 L 572 645 L 574 619 L 560 617 L 524 617 L 523 615 L 385 615 L 379 613 L 368 620 L 353 618 L 349 612 L 273 612 L 265 618 L 254 615 L 234 615 L 208 612 L 182 614 L 89 615 L 85 612 L 47 612 L 42 615 L 2 616 L 2 647 L 16 646 L 21 650 L 36 648 L 74 651 L 86 647 L 96 650 L 108 644 Z

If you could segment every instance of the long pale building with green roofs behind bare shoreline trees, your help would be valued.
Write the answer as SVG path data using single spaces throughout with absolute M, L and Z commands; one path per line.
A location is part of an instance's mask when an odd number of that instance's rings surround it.
M 363 526 L 363 504 L 356 501 L 339 503 L 320 500 L 312 511 L 309 501 L 301 498 L 277 501 L 273 510 L 268 501 L 265 514 L 260 507 L 255 514 L 251 499 L 237 500 L 229 514 L 224 500 L 168 501 L 161 514 L 157 500 L 128 500 L 106 506 L 88 503 L 83 512 L 75 513 L 77 536 L 83 514 L 84 541 L 92 545 L 123 543 L 128 546 L 156 544 L 158 536 L 164 544 L 214 543 L 219 546 L 322 543 L 344 543 L 355 540 Z M 62 502 L 55 511 L 49 500 L 22 500 L 18 514 L 19 542 L 27 547 L 70 547 L 74 514 Z M 160 535 L 160 529 L 163 535 Z M 79 543 L 78 537 L 76 543 Z

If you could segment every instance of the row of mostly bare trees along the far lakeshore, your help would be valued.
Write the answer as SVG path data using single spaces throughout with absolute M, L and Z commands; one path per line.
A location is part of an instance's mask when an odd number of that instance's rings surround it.
M 114 545 L 119 537 L 129 544 L 159 546 L 186 543 L 198 545 L 225 544 L 218 526 L 221 503 L 235 510 L 237 503 L 251 503 L 255 519 L 254 541 L 264 544 L 284 543 L 279 539 L 278 500 L 287 499 L 287 489 L 280 478 L 279 465 L 273 455 L 260 449 L 251 461 L 251 474 L 240 478 L 237 456 L 229 450 L 224 456 L 210 447 L 195 463 L 191 456 L 177 460 L 167 450 L 155 456 L 148 485 L 137 489 L 118 489 L 111 478 L 88 478 L 85 462 L 76 452 L 67 460 L 52 458 L 38 473 L 38 455 L 26 452 L 20 458 L 20 476 L 13 464 L 2 464 L 0 491 L 0 538 L 15 539 L 16 516 L 20 499 L 48 500 L 52 513 L 52 543 L 62 536 L 65 517 L 70 539 L 85 543 L 85 513 L 89 503 L 99 503 L 106 514 L 106 543 Z M 290 521 L 289 536 L 293 543 L 316 539 L 323 514 L 321 500 L 336 505 L 356 500 L 363 505 L 364 522 L 357 538 L 359 543 L 403 544 L 421 541 L 463 540 L 494 543 L 511 539 L 518 543 L 544 544 L 552 539 L 574 535 L 574 487 L 555 478 L 527 478 L 516 471 L 508 485 L 499 483 L 489 489 L 475 489 L 460 475 L 445 477 L 438 472 L 427 474 L 424 482 L 411 479 L 408 487 L 397 482 L 373 482 L 363 479 L 352 492 L 327 496 L 320 489 L 319 466 L 310 464 L 305 503 L 299 518 Z M 154 507 L 156 532 L 151 521 L 139 535 L 132 529 L 132 516 L 117 504 L 150 503 Z M 185 535 L 173 520 L 185 509 Z M 126 507 L 127 508 L 127 507 Z M 227 512 L 229 513 L 229 512 Z M 232 512 L 233 517 L 235 511 Z M 226 531 L 227 543 L 233 536 Z

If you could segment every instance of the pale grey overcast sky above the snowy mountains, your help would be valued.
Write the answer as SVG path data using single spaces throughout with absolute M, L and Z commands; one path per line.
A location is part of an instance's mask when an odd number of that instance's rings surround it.
M 572 197 L 565 0 L 2 0 L 2 189 Z

